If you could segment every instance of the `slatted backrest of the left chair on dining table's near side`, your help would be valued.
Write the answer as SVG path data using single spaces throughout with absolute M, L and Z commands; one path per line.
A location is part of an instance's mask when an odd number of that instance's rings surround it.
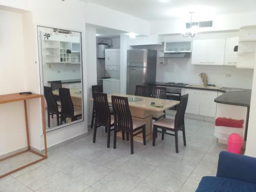
M 110 125 L 111 113 L 106 93 L 93 92 L 93 103 L 95 109 L 95 123 L 102 126 Z

